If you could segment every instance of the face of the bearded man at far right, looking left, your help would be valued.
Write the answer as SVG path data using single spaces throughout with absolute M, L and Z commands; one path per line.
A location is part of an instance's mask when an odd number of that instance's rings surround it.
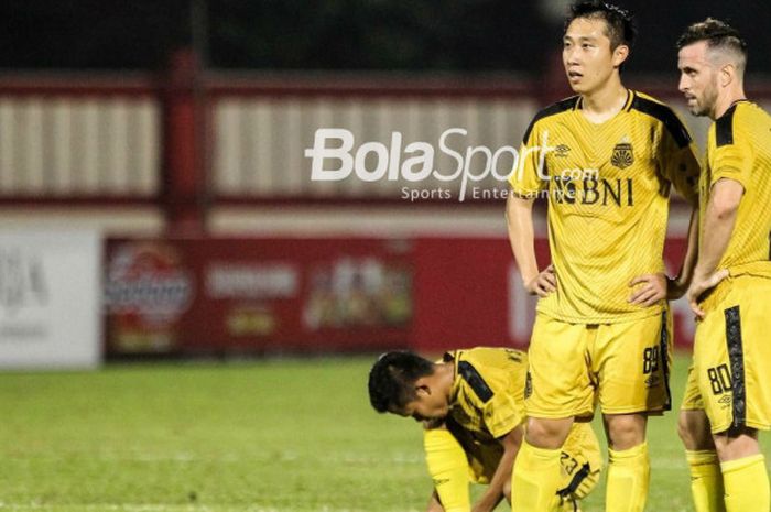
M 688 110 L 694 116 L 709 116 L 717 101 L 718 69 L 708 61 L 707 52 L 707 42 L 698 41 L 683 46 L 677 53 L 677 88 L 685 96 Z

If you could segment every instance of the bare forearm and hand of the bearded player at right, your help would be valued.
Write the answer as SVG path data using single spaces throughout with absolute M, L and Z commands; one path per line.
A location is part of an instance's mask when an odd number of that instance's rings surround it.
M 728 271 L 717 269 L 717 264 L 731 239 L 743 193 L 745 188 L 734 179 L 721 178 L 713 185 L 704 218 L 702 250 L 687 292 L 691 308 L 698 318 L 704 318 L 704 312 L 698 307 L 699 297 L 728 276 Z

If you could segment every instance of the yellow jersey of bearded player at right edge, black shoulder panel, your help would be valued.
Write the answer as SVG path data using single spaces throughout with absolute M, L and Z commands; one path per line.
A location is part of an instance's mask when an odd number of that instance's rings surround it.
M 738 101 L 709 127 L 706 160 L 699 181 L 702 225 L 715 182 L 730 178 L 745 187 L 718 269 L 771 276 L 771 117 L 753 102 Z

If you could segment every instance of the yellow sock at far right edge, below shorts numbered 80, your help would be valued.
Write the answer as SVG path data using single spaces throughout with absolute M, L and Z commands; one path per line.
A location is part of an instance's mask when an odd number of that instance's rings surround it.
M 721 462 L 728 512 L 765 512 L 771 508 L 765 458 L 753 455 Z

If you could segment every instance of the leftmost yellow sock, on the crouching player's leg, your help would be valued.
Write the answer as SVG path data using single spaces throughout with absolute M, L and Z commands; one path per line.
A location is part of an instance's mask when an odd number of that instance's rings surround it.
M 445 512 L 470 512 L 468 461 L 460 443 L 443 428 L 424 431 L 428 473 Z

